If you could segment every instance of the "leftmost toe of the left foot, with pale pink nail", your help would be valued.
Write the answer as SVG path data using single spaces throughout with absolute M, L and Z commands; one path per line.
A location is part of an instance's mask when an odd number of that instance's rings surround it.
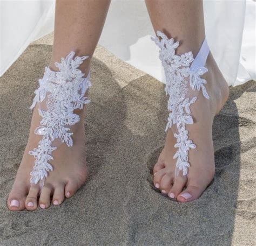
M 12 211 L 21 211 L 25 208 L 27 194 L 25 185 L 13 186 L 8 197 L 8 208 Z

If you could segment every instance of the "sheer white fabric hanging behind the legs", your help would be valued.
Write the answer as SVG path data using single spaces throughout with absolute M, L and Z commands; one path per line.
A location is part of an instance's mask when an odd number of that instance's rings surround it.
M 0 0 L 1 1 L 1 0 Z M 0 76 L 28 45 L 53 31 L 55 0 L 0 2 Z M 205 29 L 229 85 L 256 80 L 255 2 L 204 0 Z M 165 83 L 144 1 L 112 0 L 99 44 Z

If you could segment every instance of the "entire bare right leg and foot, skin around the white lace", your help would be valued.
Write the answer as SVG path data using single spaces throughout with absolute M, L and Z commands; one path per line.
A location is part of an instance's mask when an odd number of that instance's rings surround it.
M 191 51 L 195 58 L 205 38 L 203 2 L 146 0 L 146 5 L 154 30 L 180 41 L 176 54 Z M 197 96 L 197 101 L 191 106 L 194 123 L 186 128 L 189 138 L 197 145 L 196 149 L 188 151 L 188 175 L 174 175 L 176 159 L 173 159 L 173 156 L 177 151 L 174 147 L 177 139 L 173 136 L 173 133 L 177 133 L 177 128 L 174 126 L 167 132 L 165 147 L 153 170 L 155 186 L 161 189 L 162 193 L 180 202 L 199 198 L 210 184 L 215 171 L 212 123 L 214 115 L 227 100 L 228 87 L 211 52 L 205 67 L 208 72 L 204 74 L 204 79 L 207 81 L 206 89 L 210 100 L 205 99 L 201 92 L 195 94 L 193 90 L 188 89 L 187 93 L 190 99 Z

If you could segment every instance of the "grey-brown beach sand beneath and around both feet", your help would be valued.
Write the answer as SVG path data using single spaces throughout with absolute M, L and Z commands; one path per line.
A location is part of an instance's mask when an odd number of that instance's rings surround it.
M 152 186 L 164 146 L 164 84 L 98 46 L 87 106 L 89 178 L 60 207 L 10 212 L 6 199 L 29 134 L 28 107 L 52 35 L 0 78 L 1 245 L 256 245 L 254 82 L 231 88 L 215 117 L 217 171 L 200 199 L 179 203 Z

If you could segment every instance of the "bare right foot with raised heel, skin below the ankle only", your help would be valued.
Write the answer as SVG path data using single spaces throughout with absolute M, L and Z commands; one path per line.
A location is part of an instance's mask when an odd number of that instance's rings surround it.
M 194 124 L 187 125 L 189 138 L 197 145 L 196 149 L 188 151 L 190 167 L 187 176 L 182 172 L 175 178 L 176 160 L 173 159 L 177 149 L 174 147 L 173 126 L 167 132 L 165 146 L 153 168 L 154 186 L 170 198 L 179 202 L 193 201 L 205 191 L 215 173 L 214 149 L 212 140 L 212 124 L 214 116 L 223 108 L 228 98 L 228 86 L 221 74 L 212 54 L 206 61 L 208 72 L 202 77 L 206 79 L 206 89 L 210 100 L 199 92 L 197 101 L 191 105 L 191 115 Z M 193 96 L 190 89 L 188 96 Z M 184 187 L 186 187 L 184 189 Z M 184 191 L 183 191 L 184 189 Z

